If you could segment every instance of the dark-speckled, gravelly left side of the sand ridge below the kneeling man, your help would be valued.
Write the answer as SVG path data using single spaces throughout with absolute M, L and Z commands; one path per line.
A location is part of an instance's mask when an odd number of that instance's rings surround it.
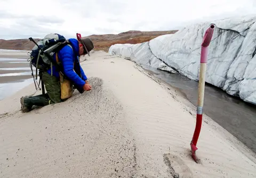
M 94 90 L 83 96 L 76 92 L 65 103 L 2 115 L 1 177 L 134 174 L 135 145 L 122 106 L 101 79 L 90 79 Z

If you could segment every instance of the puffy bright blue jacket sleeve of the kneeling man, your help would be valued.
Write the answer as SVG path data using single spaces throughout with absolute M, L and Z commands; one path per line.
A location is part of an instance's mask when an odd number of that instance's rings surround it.
M 79 77 L 74 69 L 74 61 L 73 61 L 73 50 L 69 46 L 63 47 L 59 56 L 61 58 L 61 63 L 63 66 L 63 73 L 77 86 L 83 88 L 85 82 Z

